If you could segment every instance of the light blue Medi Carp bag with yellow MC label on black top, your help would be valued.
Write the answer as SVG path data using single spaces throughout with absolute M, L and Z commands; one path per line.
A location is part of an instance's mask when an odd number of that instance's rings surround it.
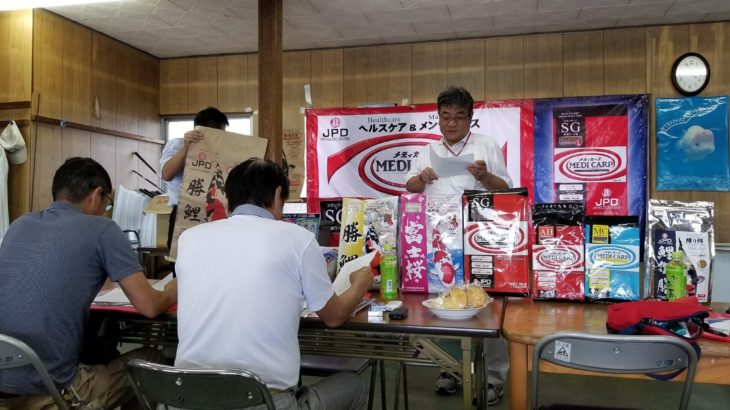
M 586 297 L 639 300 L 638 216 L 587 216 Z

